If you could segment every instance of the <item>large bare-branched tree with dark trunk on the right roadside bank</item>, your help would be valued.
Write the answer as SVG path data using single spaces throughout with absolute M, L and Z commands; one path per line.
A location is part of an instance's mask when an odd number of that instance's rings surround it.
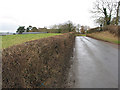
M 97 0 L 92 10 L 96 19 L 95 21 L 97 21 L 96 23 L 101 22 L 103 25 L 110 25 L 111 19 L 117 13 L 116 8 L 117 0 Z

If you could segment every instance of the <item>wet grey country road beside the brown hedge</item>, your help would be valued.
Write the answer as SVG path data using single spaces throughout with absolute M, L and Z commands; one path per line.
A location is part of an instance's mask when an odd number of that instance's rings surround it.
M 68 87 L 118 88 L 118 46 L 77 36 Z

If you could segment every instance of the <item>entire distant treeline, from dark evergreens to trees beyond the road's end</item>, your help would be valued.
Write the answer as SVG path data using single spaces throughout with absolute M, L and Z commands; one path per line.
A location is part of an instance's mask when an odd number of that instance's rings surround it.
M 61 24 L 55 24 L 48 29 L 47 27 L 44 28 L 36 28 L 33 26 L 28 26 L 25 28 L 25 26 L 20 26 L 17 29 L 17 33 L 22 34 L 23 32 L 46 32 L 46 33 L 67 33 L 67 32 L 80 32 L 85 33 L 86 30 L 88 30 L 89 26 L 81 26 L 80 24 L 73 24 L 71 21 L 67 21 L 65 23 Z M 80 30 L 81 29 L 81 30 Z

